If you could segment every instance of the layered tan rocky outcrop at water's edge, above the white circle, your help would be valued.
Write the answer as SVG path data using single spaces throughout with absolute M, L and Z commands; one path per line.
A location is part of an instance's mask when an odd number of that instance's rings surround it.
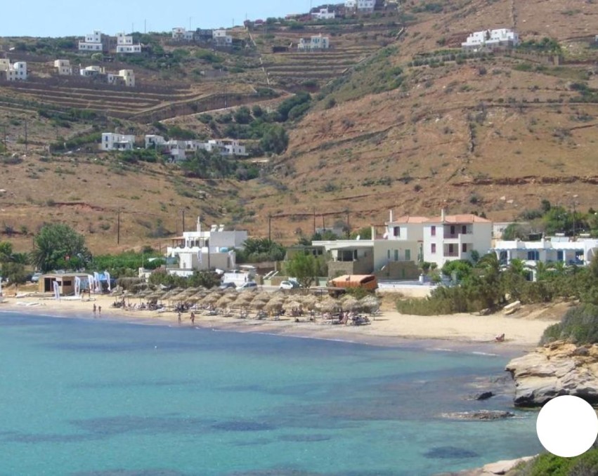
M 515 406 L 541 406 L 559 395 L 575 395 L 598 404 L 598 345 L 559 341 L 512 359 Z

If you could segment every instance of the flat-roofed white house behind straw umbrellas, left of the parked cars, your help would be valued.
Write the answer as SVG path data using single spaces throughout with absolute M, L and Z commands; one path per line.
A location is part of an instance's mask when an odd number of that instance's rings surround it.
M 247 237 L 247 231 L 225 231 L 224 225 L 202 230 L 197 217 L 195 231 L 183 232 L 183 236 L 172 239 L 166 253 L 169 258 L 178 258 L 178 265 L 167 266 L 167 271 L 171 275 L 190 276 L 195 270 L 232 270 L 236 267 L 235 249 L 243 249 Z

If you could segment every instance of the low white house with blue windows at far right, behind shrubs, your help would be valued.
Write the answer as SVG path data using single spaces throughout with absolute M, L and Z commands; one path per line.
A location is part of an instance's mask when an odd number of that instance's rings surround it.
M 538 242 L 499 240 L 492 251 L 503 265 L 519 259 L 529 267 L 535 267 L 538 262 L 585 266 L 598 256 L 598 239 L 573 241 L 569 237 L 547 237 Z

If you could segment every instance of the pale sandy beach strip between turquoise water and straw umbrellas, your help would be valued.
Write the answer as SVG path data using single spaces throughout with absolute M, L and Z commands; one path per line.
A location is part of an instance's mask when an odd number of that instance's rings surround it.
M 60 301 L 51 298 L 6 297 L 0 310 L 28 312 L 32 314 L 63 315 L 93 318 L 93 305 L 101 306 L 101 319 L 123 319 L 127 322 L 151 322 L 155 324 L 179 325 L 176 312 L 156 312 L 148 310 L 123 310 L 113 308 L 115 298 L 110 295 L 92 296 L 91 300 Z M 195 326 L 209 329 L 227 329 L 242 332 L 278 333 L 289 336 L 325 338 L 370 344 L 401 343 L 405 340 L 436 341 L 443 345 L 476 344 L 481 348 L 495 351 L 500 348 L 531 349 L 538 344 L 547 326 L 559 322 L 566 305 L 524 307 L 514 315 L 500 313 L 488 316 L 455 314 L 438 316 L 403 315 L 393 310 L 391 298 L 383 300 L 379 315 L 371 323 L 363 326 L 332 325 L 316 319 L 309 322 L 306 317 L 295 322 L 290 317 L 273 319 L 240 319 L 207 315 L 195 311 Z M 181 326 L 191 326 L 190 312 L 181 315 Z M 494 337 L 505 333 L 505 342 L 496 343 Z

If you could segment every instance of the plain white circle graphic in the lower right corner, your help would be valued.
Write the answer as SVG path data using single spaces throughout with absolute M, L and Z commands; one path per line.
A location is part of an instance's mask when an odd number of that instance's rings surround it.
M 542 406 L 535 430 L 547 451 L 573 458 L 585 453 L 596 441 L 598 416 L 584 399 L 562 395 Z

